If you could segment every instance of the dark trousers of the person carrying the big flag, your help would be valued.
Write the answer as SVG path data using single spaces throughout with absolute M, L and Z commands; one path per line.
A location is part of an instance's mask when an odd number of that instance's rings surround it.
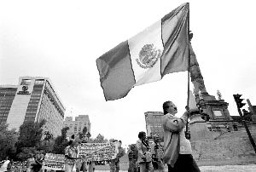
M 167 165 L 168 172 L 200 172 L 191 154 L 179 154 L 173 168 L 170 164 Z

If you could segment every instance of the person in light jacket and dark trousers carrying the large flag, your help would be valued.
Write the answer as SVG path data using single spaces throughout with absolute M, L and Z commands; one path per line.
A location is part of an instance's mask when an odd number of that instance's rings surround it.
M 163 103 L 164 119 L 164 163 L 167 163 L 169 172 L 193 171 L 200 169 L 192 157 L 192 149 L 189 139 L 185 136 L 185 125 L 189 118 L 189 107 L 181 118 L 175 117 L 177 106 L 172 101 Z

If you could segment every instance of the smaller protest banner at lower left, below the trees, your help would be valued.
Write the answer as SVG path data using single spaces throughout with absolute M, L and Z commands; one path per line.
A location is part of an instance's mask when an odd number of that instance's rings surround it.
M 65 170 L 65 155 L 46 153 L 43 169 Z

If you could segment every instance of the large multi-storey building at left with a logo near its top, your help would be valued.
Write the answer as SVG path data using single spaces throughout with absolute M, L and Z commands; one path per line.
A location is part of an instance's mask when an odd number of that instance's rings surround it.
M 10 90 L 10 88 L 6 89 Z M 65 107 L 56 95 L 49 78 L 20 77 L 16 91 L 13 88 L 9 96 L 14 96 L 6 119 L 9 129 L 19 129 L 22 123 L 39 122 L 45 119 L 44 131 L 49 131 L 54 137 L 61 135 Z M 11 99 L 9 98 L 9 101 Z M 7 101 L 7 98 L 3 100 Z

